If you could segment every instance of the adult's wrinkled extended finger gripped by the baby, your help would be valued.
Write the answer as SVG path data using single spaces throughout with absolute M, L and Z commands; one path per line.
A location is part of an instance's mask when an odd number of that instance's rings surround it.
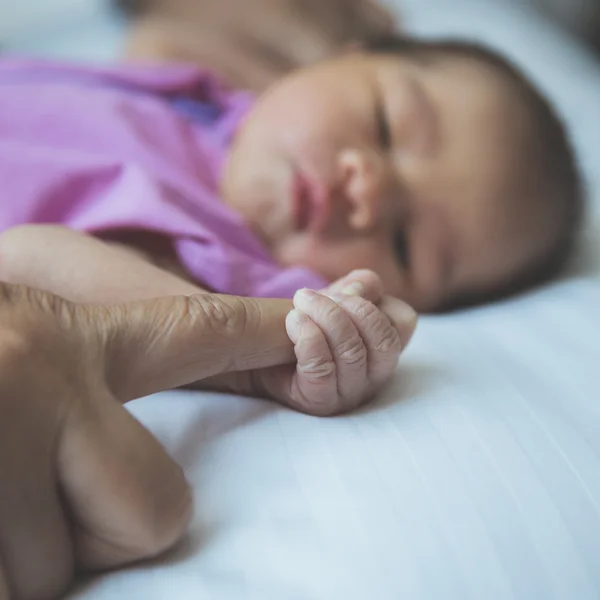
M 103 332 L 107 381 L 122 402 L 295 360 L 285 330 L 290 300 L 198 294 L 86 308 L 92 330 Z

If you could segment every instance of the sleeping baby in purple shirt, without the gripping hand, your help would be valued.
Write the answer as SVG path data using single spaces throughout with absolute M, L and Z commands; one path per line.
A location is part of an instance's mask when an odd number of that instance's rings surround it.
M 462 42 L 381 39 L 258 99 L 191 66 L 7 61 L 0 131 L 2 279 L 88 302 L 285 298 L 368 269 L 359 295 L 444 311 L 557 273 L 582 212 L 547 102 Z M 39 223 L 68 229 L 11 230 Z

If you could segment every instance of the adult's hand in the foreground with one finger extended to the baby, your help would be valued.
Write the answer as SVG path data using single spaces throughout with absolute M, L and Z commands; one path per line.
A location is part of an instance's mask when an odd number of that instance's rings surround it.
M 151 557 L 184 533 L 184 475 L 122 403 L 293 360 L 290 303 L 268 305 L 277 323 L 254 307 L 214 295 L 92 306 L 0 284 L 0 599 L 57 598 L 76 569 Z

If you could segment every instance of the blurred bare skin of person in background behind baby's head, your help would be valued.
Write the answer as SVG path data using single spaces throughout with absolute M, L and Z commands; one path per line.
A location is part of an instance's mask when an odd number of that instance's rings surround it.
M 395 22 L 376 0 L 158 0 L 136 2 L 130 58 L 180 60 L 262 91 L 291 69 L 343 46 L 389 35 Z

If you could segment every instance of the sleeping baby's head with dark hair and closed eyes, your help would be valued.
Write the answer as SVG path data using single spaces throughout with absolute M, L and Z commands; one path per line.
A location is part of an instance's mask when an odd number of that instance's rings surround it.
M 283 265 L 369 268 L 420 311 L 492 300 L 566 261 L 582 186 L 564 130 L 504 59 L 388 39 L 269 89 L 224 199 Z

